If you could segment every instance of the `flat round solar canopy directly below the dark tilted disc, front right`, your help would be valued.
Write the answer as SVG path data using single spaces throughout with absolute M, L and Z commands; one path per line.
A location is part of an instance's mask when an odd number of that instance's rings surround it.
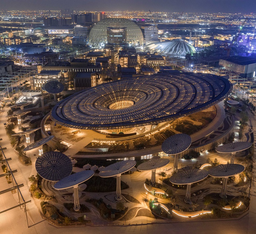
M 208 176 L 208 171 L 203 169 L 179 170 L 170 177 L 170 182 L 176 185 L 188 185 L 199 182 Z

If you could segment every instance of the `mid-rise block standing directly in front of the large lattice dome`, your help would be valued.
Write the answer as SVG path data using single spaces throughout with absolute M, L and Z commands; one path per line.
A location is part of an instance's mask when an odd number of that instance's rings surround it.
M 107 44 L 120 47 L 126 44 L 126 28 L 107 28 Z

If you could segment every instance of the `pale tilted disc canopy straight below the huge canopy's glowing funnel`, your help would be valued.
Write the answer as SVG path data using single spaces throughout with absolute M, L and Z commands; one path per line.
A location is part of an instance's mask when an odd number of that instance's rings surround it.
M 100 177 L 112 177 L 124 172 L 127 172 L 132 167 L 136 165 L 136 161 L 134 160 L 125 160 L 113 163 L 107 167 L 103 171 L 99 172 Z

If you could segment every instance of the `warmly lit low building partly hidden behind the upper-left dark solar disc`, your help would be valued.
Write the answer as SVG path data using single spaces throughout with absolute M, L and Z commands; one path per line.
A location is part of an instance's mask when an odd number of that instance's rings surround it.
M 33 76 L 33 85 L 31 85 L 31 89 L 41 90 L 41 87 L 45 82 L 51 79 L 57 79 L 59 82 L 63 83 L 64 90 L 66 91 L 68 89 L 68 77 L 66 74 L 67 72 L 62 72 L 61 70 L 41 71 Z

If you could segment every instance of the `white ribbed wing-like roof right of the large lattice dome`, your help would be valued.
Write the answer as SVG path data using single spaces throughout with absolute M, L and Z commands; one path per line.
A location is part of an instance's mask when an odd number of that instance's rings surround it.
M 149 43 L 145 46 L 146 49 L 156 50 L 165 54 L 185 55 L 187 53 L 196 53 L 196 49 L 191 44 L 183 40 L 173 40 L 169 42 Z

